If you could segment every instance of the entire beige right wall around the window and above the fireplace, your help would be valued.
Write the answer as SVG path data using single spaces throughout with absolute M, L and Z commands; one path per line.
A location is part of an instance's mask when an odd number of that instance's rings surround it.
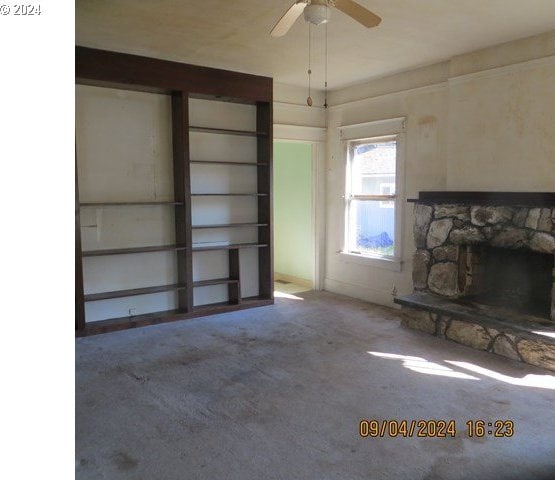
M 346 259 L 340 126 L 406 117 L 405 198 L 421 190 L 555 191 L 555 32 L 351 86 L 328 110 L 325 288 L 392 304 L 412 291 L 412 206 L 401 271 Z

